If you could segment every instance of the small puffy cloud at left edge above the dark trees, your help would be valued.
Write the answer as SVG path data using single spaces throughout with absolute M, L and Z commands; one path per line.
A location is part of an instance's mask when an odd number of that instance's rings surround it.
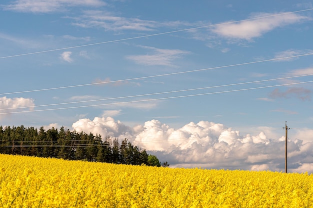
M 35 106 L 34 102 L 30 98 L 7 98 L 0 97 L 0 118 L 8 115 L 10 112 L 22 111 L 24 108 L 32 110 Z

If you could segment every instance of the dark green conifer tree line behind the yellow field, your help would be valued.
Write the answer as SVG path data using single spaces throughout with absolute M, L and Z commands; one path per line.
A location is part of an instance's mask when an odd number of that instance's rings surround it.
M 117 138 L 92 133 L 70 131 L 52 127 L 45 131 L 34 127 L 0 126 L 0 153 L 11 155 L 62 158 L 127 165 L 169 166 L 160 163 L 156 156 L 145 149 L 133 146 L 127 139 L 119 143 Z

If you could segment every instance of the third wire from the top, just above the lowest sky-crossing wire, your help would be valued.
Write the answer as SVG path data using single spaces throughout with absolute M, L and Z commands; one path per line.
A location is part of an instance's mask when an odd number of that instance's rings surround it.
M 95 101 L 114 100 L 114 99 L 122 99 L 122 98 L 142 97 L 142 96 L 149 96 L 149 95 L 160 95 L 160 94 L 175 93 L 175 92 L 186 92 L 186 91 L 193 91 L 193 90 L 201 90 L 201 89 L 209 89 L 209 88 L 217 88 L 217 87 L 226 87 L 226 86 L 234 86 L 234 85 L 241 85 L 241 84 L 251 84 L 251 83 L 258 83 L 258 82 L 281 80 L 281 79 L 290 79 L 290 78 L 311 76 L 311 75 L 313 75 L 313 74 L 304 74 L 304 75 L 280 77 L 280 78 L 274 78 L 274 79 L 265 79 L 265 80 L 258 80 L 258 81 L 241 82 L 241 83 L 234 83 L 234 84 L 225 84 L 225 85 L 200 87 L 200 88 L 184 89 L 184 90 L 175 90 L 175 91 L 167 91 L 167 92 L 157 92 L 157 93 L 149 93 L 149 94 L 141 94 L 141 95 L 130 95 L 130 96 L 122 96 L 122 97 L 114 97 L 114 98 L 103 98 L 103 99 L 84 100 L 84 101 L 75 101 L 75 102 L 66 102 L 66 103 L 54 103 L 54 104 L 45 104 L 45 105 L 37 105 L 37 106 L 23 106 L 23 107 L 14 107 L 14 108 L 1 108 L 0 110 L 12 110 L 12 109 L 32 108 L 32 107 L 33 108 L 35 108 L 35 107 L 46 107 L 46 106 L 55 106 L 55 105 L 68 105 L 68 104 L 76 104 L 76 103 L 84 103 L 84 102 L 95 102 Z

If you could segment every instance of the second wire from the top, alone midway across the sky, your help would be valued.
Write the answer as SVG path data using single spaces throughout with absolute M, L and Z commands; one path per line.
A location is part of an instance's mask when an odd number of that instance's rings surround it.
M 97 85 L 97 84 L 108 84 L 108 83 L 114 83 L 114 82 L 122 82 L 122 81 L 130 81 L 130 80 L 137 80 L 137 79 L 146 79 L 146 78 L 153 78 L 153 77 L 161 77 L 161 76 L 169 76 L 169 75 L 177 75 L 177 74 L 184 74 L 184 73 L 191 73 L 191 72 L 198 72 L 198 71 L 205 71 L 205 70 L 227 68 L 227 67 L 233 67 L 233 66 L 242 66 L 242 65 L 254 64 L 254 63 L 276 61 L 276 60 L 282 60 L 282 59 L 288 59 L 288 58 L 296 58 L 296 57 L 307 56 L 307 55 L 313 55 L 313 53 L 305 53 L 305 54 L 300 54 L 300 55 L 279 57 L 279 58 L 271 58 L 271 59 L 260 60 L 260 61 L 252 61 L 252 62 L 231 64 L 231 65 L 224 65 L 224 66 L 216 66 L 216 67 L 204 68 L 204 69 L 196 69 L 196 70 L 189 70 L 189 71 L 173 72 L 173 73 L 168 73 L 168 74 L 158 74 L 158 75 L 145 76 L 145 77 L 120 79 L 120 80 L 97 82 L 97 83 L 89 83 L 89 84 L 80 84 L 80 85 L 72 85 L 72 86 L 64 86 L 64 87 L 45 88 L 45 89 L 37 89 L 37 90 L 27 90 L 27 91 L 19 91 L 19 92 L 0 93 L 0 95 L 27 93 L 27 92 L 38 92 L 38 91 L 46 91 L 46 90 L 56 90 L 56 89 L 64 89 L 64 88 L 71 88 L 71 87 L 82 87 L 82 86 L 90 86 L 90 85 Z

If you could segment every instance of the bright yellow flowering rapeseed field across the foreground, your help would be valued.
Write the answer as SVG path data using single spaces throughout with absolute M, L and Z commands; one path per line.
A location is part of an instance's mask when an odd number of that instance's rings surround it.
M 313 175 L 157 168 L 0 154 L 1 208 L 304 208 Z

